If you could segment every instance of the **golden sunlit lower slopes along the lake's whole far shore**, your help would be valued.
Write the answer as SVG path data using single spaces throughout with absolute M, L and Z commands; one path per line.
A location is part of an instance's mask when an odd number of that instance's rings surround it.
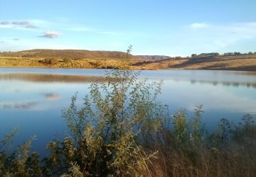
M 50 55 L 51 56 L 51 55 Z M 127 59 L 94 57 L 66 59 L 63 57 L 0 57 L 0 68 L 77 68 L 77 69 L 120 69 Z M 213 57 L 183 57 L 170 59 L 129 58 L 131 69 L 203 69 L 256 72 L 256 55 L 218 55 Z

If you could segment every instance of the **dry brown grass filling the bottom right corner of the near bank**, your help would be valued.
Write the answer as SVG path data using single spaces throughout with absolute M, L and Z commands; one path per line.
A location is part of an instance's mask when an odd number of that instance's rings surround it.
M 163 149 L 161 149 L 163 150 Z M 226 152 L 218 149 L 197 149 L 195 161 L 188 154 L 175 150 L 159 152 L 157 159 L 151 161 L 151 176 L 255 176 L 255 155 L 248 152 L 229 149 Z

